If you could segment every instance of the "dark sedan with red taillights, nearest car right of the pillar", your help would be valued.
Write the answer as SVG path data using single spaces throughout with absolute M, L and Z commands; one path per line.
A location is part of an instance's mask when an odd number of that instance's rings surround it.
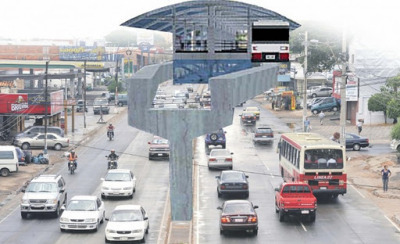
M 224 235 L 227 231 L 251 231 L 258 234 L 258 216 L 255 211 L 257 205 L 247 200 L 225 201 L 221 207 L 219 233 Z

